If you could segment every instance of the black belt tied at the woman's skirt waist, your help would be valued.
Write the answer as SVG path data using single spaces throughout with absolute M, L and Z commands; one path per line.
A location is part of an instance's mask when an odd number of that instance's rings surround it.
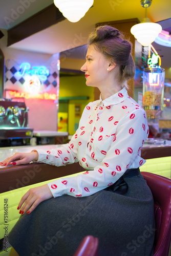
M 131 178 L 138 174 L 140 174 L 139 167 L 134 169 L 127 169 L 126 172 L 119 178 L 119 180 L 117 180 L 111 186 L 106 187 L 104 190 L 108 190 L 108 191 L 123 195 L 127 192 L 127 189 L 128 189 L 128 185 L 125 182 L 124 178 Z

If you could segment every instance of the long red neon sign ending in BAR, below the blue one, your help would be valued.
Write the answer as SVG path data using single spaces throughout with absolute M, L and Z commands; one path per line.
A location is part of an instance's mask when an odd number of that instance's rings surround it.
M 31 93 L 19 93 L 17 91 L 8 91 L 11 98 L 25 98 L 25 99 L 50 99 L 50 100 L 56 100 L 57 95 L 56 94 L 50 94 L 50 93 L 37 93 L 37 94 L 31 94 Z

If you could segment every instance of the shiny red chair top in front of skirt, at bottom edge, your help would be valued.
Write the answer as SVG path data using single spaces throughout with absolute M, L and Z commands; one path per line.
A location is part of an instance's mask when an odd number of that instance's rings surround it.
M 73 256 L 98 256 L 98 239 L 93 236 L 84 237 Z

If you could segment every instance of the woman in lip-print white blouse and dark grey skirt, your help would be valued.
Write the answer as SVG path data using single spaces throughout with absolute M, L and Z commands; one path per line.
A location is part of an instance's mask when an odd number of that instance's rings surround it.
M 97 87 L 101 95 L 84 109 L 71 141 L 49 151 L 16 153 L 2 163 L 61 166 L 79 161 L 86 169 L 23 196 L 18 205 L 22 216 L 9 234 L 15 249 L 11 255 L 72 255 L 91 234 L 99 239 L 101 256 L 151 256 L 153 197 L 139 172 L 148 125 L 145 112 L 126 91 L 126 80 L 135 73 L 130 42 L 115 28 L 97 28 L 81 71 L 87 86 Z

